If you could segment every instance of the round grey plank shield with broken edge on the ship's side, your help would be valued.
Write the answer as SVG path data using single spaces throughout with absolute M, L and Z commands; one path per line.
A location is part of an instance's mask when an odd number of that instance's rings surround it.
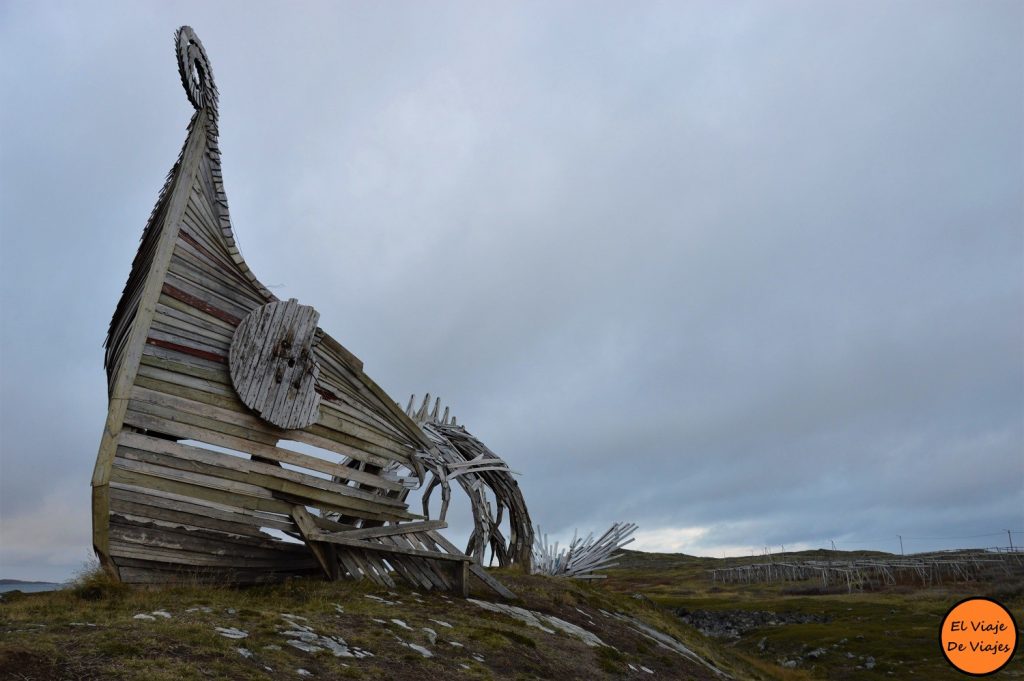
M 319 418 L 313 357 L 319 312 L 295 298 L 257 307 L 231 339 L 231 383 L 246 407 L 280 428 L 305 428 Z

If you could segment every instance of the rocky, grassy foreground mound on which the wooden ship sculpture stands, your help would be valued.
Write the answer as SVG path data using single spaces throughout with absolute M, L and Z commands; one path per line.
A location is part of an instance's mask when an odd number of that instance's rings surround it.
M 572 580 L 506 572 L 520 599 L 503 602 L 482 589 L 464 600 L 348 582 L 142 590 L 90 579 L 0 600 L 0 678 L 769 678 L 671 612 Z

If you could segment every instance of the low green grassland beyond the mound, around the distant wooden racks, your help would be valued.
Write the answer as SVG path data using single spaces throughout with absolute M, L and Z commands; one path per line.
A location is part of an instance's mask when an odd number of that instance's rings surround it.
M 790 554 L 821 558 L 821 552 Z M 844 554 L 861 557 L 865 553 Z M 870 555 L 886 555 L 871 553 Z M 764 626 L 738 640 L 725 641 L 737 656 L 769 674 L 785 661 L 799 666 L 786 672 L 816 679 L 959 679 L 942 656 L 938 632 L 943 615 L 968 596 L 994 597 L 1022 621 L 1024 576 L 922 588 L 899 585 L 877 591 L 824 593 L 812 583 L 715 584 L 708 570 L 751 559 L 696 558 L 629 552 L 607 586 L 622 593 L 641 593 L 656 605 L 675 610 L 771 611 L 827 618 L 825 623 Z M 762 560 L 761 558 L 757 560 Z M 722 641 L 722 639 L 718 639 Z M 807 653 L 824 648 L 820 656 Z M 868 657 L 873 668 L 867 669 Z M 1024 678 L 1020 658 L 1000 678 Z

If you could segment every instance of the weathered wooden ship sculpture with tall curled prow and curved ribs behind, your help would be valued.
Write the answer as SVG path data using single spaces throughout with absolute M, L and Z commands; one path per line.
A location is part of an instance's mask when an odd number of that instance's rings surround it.
M 508 466 L 439 399 L 402 409 L 313 307 L 279 300 L 246 266 L 210 61 L 188 27 L 175 46 L 196 113 L 106 337 L 92 479 L 103 566 L 128 583 L 321 573 L 462 594 L 475 574 L 512 597 L 482 566 L 489 550 L 529 569 L 532 525 Z M 453 481 L 473 508 L 466 552 L 440 534 Z M 414 490 L 422 513 L 407 503 Z

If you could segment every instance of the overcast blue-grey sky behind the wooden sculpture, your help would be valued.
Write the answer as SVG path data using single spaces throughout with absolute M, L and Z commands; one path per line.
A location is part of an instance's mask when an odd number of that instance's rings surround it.
M 90 554 L 182 24 L 249 265 L 402 405 L 440 394 L 546 530 L 1024 530 L 1024 5 L 302 8 L 0 3 L 0 577 Z

